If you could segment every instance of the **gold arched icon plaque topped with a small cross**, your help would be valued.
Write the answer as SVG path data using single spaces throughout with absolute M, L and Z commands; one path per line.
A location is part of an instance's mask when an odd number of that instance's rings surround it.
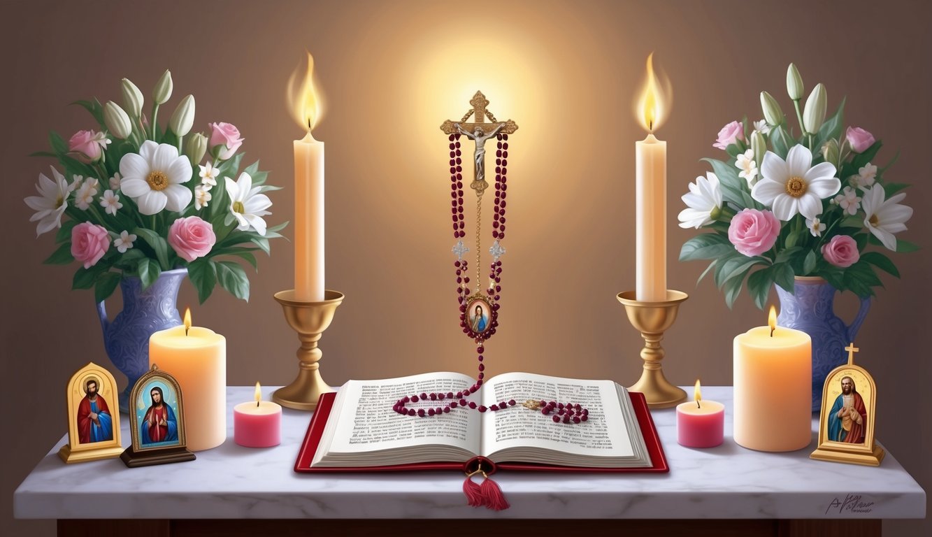
M 855 365 L 855 344 L 844 350 L 848 351 L 848 363 L 833 369 L 825 379 L 818 447 L 809 457 L 879 466 L 884 448 L 874 444 L 877 386 L 867 370 Z

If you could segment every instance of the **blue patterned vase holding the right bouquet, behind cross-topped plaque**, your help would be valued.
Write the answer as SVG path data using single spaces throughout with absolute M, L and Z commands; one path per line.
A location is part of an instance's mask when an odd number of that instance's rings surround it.
M 790 294 L 776 286 L 780 314 L 776 324 L 802 330 L 813 340 L 813 412 L 822 409 L 822 388 L 835 367 L 848 360 L 844 348 L 855 340 L 870 309 L 870 297 L 862 297 L 860 309 L 850 325 L 835 315 L 835 291 L 822 278 L 797 276 Z

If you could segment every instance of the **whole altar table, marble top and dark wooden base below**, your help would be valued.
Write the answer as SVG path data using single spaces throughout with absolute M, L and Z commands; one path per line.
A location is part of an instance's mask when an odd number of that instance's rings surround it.
M 281 446 L 233 442 L 232 408 L 254 387 L 227 388 L 226 442 L 197 461 L 127 468 L 119 459 L 65 464 L 59 447 L 14 493 L 17 518 L 56 518 L 59 535 L 633 535 L 701 537 L 880 535 L 883 518 L 925 517 L 925 491 L 892 453 L 879 467 L 813 461 L 809 447 L 763 453 L 732 438 L 732 388 L 703 387 L 725 405 L 725 441 L 677 444 L 675 409 L 652 410 L 669 474 L 494 475 L 511 508 L 466 504 L 457 472 L 306 475 L 294 471 L 310 414 L 285 409 Z M 270 392 L 270 391 L 268 391 Z M 387 403 L 391 404 L 391 403 Z M 129 420 L 121 420 L 124 447 Z

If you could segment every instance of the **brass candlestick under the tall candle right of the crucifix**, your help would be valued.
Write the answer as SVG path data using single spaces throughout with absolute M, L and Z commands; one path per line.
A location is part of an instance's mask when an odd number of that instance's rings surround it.
M 634 291 L 618 294 L 618 301 L 624 304 L 628 321 L 644 338 L 644 348 L 640 356 L 644 360 L 641 378 L 628 388 L 632 392 L 641 392 L 651 408 L 669 408 L 686 400 L 686 392 L 670 384 L 664 377 L 660 361 L 665 351 L 660 345 L 664 332 L 677 320 L 679 304 L 689 298 L 682 291 L 666 290 L 666 300 L 662 302 L 641 302 L 635 298 Z

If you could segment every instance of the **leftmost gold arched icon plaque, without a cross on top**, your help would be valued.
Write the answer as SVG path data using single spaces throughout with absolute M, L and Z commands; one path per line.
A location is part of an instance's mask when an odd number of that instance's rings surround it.
M 119 457 L 117 381 L 93 362 L 68 381 L 68 443 L 59 450 L 62 461 L 85 462 Z

